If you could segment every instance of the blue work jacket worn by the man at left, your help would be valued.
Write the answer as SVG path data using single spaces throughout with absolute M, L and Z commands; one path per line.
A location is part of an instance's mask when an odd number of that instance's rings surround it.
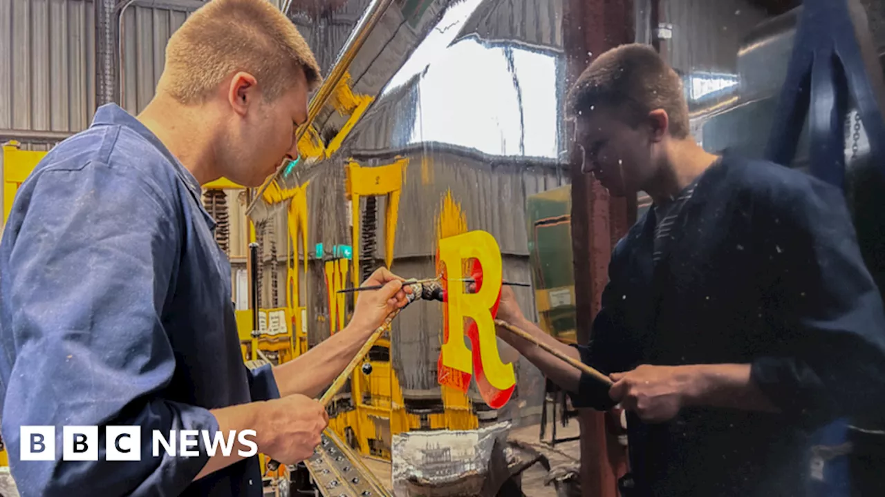
M 200 185 L 118 106 L 59 143 L 16 195 L 0 242 L 0 407 L 12 476 L 38 495 L 261 495 L 258 456 L 153 456 L 151 432 L 218 430 L 209 409 L 279 397 L 242 361 L 230 266 Z M 56 460 L 19 460 L 19 426 L 56 428 Z M 98 425 L 98 461 L 62 462 L 62 426 Z M 104 426 L 142 427 L 108 462 Z

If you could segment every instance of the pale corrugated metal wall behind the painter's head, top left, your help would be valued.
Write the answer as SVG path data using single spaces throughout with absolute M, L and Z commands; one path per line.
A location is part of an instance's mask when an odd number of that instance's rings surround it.
M 134 113 L 153 96 L 169 36 L 200 2 L 141 4 L 124 11 L 121 30 L 122 102 Z M 0 0 L 0 54 L 0 139 L 18 134 L 25 143 L 48 142 L 45 149 L 89 126 L 96 103 L 91 1 Z

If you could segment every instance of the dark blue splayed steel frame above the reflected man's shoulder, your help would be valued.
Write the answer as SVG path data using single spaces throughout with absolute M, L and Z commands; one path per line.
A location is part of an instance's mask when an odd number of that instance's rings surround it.
M 863 6 L 858 0 L 805 0 L 802 9 L 766 158 L 792 162 L 807 116 L 812 175 L 844 187 L 844 119 L 851 96 L 873 163 L 885 174 L 885 83 Z

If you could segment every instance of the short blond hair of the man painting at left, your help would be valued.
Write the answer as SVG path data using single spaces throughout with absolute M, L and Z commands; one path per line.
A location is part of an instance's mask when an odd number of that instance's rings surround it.
M 308 89 L 321 76 L 304 37 L 267 0 L 211 0 L 169 39 L 159 87 L 181 103 L 203 102 L 232 73 L 258 80 L 266 101 L 291 88 L 299 70 Z

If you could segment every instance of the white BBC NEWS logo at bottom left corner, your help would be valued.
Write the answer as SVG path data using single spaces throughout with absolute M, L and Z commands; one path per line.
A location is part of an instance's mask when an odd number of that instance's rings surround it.
M 22 461 L 55 461 L 56 427 L 22 426 L 20 433 L 20 458 Z M 140 426 L 107 426 L 104 429 L 104 459 L 107 461 L 142 461 L 142 428 Z M 230 456 L 235 441 L 249 450 L 238 449 L 241 457 L 258 454 L 254 430 L 221 432 L 208 430 L 175 430 L 167 435 L 154 430 L 151 435 L 152 455 L 160 457 L 165 452 L 173 457 L 197 457 L 202 439 L 206 454 L 214 456 L 220 448 L 221 455 Z M 98 426 L 63 426 L 62 461 L 98 461 Z

